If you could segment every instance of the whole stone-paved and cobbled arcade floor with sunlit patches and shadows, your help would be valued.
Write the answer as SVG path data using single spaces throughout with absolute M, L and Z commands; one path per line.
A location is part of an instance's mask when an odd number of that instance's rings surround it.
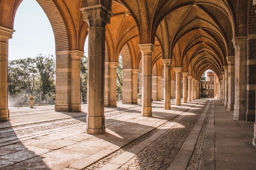
M 172 100 L 172 110 L 163 110 L 163 102 L 153 102 L 153 117 L 141 117 L 140 105 L 118 104 L 105 108 L 107 132 L 102 135 L 85 133 L 85 112 L 60 113 L 51 107 L 37 106 L 31 113 L 10 109 L 9 124 L 0 123 L 0 168 L 256 167 L 253 122 L 232 120 L 232 112 L 218 100 L 200 99 L 182 106 Z

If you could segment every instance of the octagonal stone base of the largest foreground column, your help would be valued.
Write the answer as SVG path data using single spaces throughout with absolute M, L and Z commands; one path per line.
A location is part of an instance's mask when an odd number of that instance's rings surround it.
M 88 116 L 87 115 L 87 127 L 86 132 L 88 134 L 100 134 L 105 133 L 105 116 Z

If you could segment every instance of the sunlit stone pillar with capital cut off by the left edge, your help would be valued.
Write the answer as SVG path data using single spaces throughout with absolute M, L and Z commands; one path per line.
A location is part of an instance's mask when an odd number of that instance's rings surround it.
M 0 26 L 0 122 L 9 120 L 8 109 L 8 40 L 14 30 Z

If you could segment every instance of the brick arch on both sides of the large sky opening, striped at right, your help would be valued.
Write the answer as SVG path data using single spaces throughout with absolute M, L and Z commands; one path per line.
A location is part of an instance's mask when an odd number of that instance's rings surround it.
M 52 0 L 36 0 L 48 17 L 55 37 L 56 51 L 69 49 L 68 33 L 63 17 Z M 13 29 L 16 11 L 22 0 L 2 0 L 0 2 L 0 25 Z

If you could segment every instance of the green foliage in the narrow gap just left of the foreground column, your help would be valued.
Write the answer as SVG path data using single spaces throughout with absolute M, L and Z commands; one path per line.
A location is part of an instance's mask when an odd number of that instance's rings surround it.
M 87 92 L 87 80 L 88 80 L 88 57 L 83 56 L 81 58 L 81 92 L 83 92 L 82 98 L 86 98 Z

